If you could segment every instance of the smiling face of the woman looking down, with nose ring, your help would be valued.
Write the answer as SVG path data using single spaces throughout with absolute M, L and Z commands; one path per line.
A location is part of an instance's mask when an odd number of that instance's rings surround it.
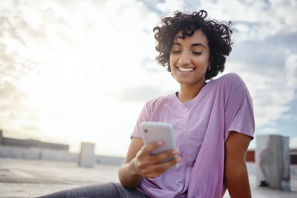
M 177 36 L 182 36 L 181 32 Z M 179 84 L 194 85 L 205 82 L 205 72 L 210 66 L 209 47 L 205 34 L 196 30 L 185 39 L 174 39 L 170 51 L 171 72 Z

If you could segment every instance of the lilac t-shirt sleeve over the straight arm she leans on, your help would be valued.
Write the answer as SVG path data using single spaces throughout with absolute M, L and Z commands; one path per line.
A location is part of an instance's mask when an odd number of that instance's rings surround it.
M 241 80 L 228 94 L 225 116 L 225 141 L 231 131 L 254 138 L 255 121 L 253 103 L 246 84 Z

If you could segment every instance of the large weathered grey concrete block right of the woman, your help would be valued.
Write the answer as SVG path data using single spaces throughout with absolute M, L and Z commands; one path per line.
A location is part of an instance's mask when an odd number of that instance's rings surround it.
M 289 137 L 257 136 L 255 162 L 258 186 L 291 190 Z

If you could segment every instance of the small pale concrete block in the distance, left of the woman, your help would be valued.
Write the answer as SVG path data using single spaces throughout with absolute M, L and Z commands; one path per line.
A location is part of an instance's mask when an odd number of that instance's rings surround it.
M 81 143 L 81 151 L 78 159 L 79 167 L 92 168 L 96 161 L 95 144 L 93 143 Z

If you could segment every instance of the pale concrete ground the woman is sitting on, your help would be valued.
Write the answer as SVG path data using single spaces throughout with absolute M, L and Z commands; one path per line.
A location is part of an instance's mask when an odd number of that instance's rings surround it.
M 256 187 L 254 168 L 248 163 L 253 198 L 297 198 L 295 170 L 291 174 L 292 192 L 281 192 Z M 99 164 L 80 168 L 73 162 L 0 158 L 0 198 L 32 198 L 83 185 L 118 182 L 117 169 Z M 224 198 L 230 198 L 229 194 Z

